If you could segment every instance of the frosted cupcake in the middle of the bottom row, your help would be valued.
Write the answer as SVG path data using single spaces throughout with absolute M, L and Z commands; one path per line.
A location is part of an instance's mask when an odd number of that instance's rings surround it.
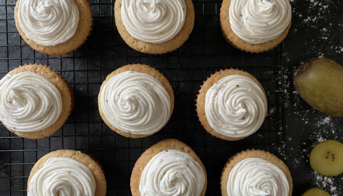
M 149 147 L 131 174 L 132 196 L 204 196 L 207 175 L 193 149 L 176 140 Z

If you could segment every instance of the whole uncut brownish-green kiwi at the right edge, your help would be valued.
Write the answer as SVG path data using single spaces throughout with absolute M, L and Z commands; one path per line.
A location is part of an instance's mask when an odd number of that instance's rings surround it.
M 314 58 L 296 70 L 295 89 L 313 108 L 343 117 L 343 67 L 327 58 Z

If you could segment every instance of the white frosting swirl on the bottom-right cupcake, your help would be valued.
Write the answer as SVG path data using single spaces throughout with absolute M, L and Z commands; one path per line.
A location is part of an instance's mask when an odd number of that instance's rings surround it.
M 285 173 L 260 158 L 246 158 L 233 167 L 227 181 L 228 196 L 288 196 Z

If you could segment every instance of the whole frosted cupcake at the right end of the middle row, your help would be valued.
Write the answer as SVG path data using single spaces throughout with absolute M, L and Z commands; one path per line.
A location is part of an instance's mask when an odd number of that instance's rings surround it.
M 196 99 L 202 126 L 217 138 L 234 141 L 255 133 L 267 115 L 267 97 L 250 73 L 221 70 L 207 78 Z

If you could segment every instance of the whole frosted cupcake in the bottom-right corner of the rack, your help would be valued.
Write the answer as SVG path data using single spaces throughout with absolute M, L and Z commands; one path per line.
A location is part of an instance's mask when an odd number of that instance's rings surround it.
M 221 173 L 222 196 L 292 196 L 292 189 L 286 164 L 263 150 L 235 154 Z

